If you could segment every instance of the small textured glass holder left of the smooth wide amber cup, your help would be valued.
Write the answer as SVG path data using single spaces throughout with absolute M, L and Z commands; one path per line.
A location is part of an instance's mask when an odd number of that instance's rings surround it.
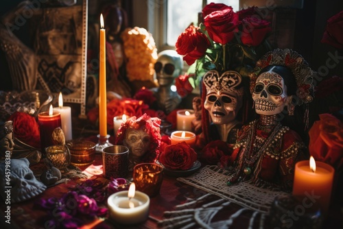
M 58 169 L 70 165 L 70 152 L 67 145 L 51 145 L 45 148 L 47 159 Z

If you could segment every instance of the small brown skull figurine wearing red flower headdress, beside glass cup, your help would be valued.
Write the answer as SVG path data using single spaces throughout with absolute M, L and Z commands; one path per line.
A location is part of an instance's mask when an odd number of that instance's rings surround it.
M 131 117 L 121 124 L 115 145 L 125 145 L 129 149 L 129 171 L 140 162 L 154 162 L 158 157 L 161 143 L 161 119 L 143 114 Z

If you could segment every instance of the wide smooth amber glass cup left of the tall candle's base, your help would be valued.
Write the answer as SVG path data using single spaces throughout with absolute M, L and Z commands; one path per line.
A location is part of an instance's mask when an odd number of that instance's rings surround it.
M 91 165 L 95 160 L 95 143 L 91 141 L 72 140 L 67 143 L 71 164 L 76 166 Z

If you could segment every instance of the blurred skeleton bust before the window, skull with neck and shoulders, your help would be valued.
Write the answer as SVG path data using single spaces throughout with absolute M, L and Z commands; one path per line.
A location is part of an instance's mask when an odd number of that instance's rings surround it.
M 181 102 L 181 97 L 176 91 L 171 90 L 174 80 L 182 73 L 183 60 L 174 50 L 165 50 L 158 53 L 154 65 L 158 88 L 154 88 L 158 108 L 169 113 Z

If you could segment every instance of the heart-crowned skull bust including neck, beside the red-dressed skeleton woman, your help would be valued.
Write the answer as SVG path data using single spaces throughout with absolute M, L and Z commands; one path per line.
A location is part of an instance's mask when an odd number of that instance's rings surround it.
M 208 113 L 203 117 L 210 116 L 212 122 L 210 130 L 206 130 L 206 123 L 203 125 L 205 127 L 204 134 L 207 134 L 208 131 L 211 136 L 219 134 L 217 138 L 230 142 L 231 130 L 236 130 L 241 125 L 236 120 L 237 113 L 242 106 L 244 93 L 241 81 L 241 75 L 235 71 L 226 71 L 220 75 L 217 71 L 211 70 L 204 75 L 202 80 L 206 87 L 204 108 Z

